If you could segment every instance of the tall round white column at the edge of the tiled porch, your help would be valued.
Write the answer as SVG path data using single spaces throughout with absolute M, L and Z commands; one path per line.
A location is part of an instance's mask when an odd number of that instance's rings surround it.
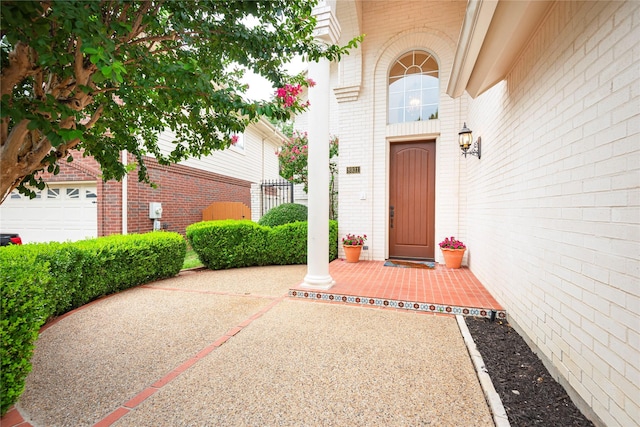
M 328 43 L 338 39 L 339 27 L 330 6 L 314 10 L 316 37 Z M 308 179 L 309 214 L 307 231 L 307 275 L 302 286 L 329 289 L 329 96 L 330 63 L 327 59 L 309 64 L 308 76 L 316 84 L 309 88 Z

